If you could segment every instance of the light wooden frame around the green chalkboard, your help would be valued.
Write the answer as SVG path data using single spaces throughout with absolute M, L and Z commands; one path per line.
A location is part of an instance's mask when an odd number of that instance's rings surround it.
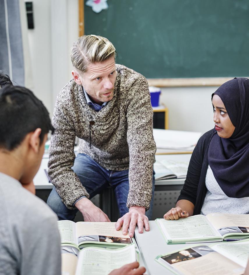
M 84 35 L 84 0 L 78 0 L 79 7 L 79 36 Z M 249 77 L 247 77 L 249 78 Z M 202 78 L 147 78 L 150 86 L 156 87 L 202 87 L 220 86 L 231 77 L 202 77 Z

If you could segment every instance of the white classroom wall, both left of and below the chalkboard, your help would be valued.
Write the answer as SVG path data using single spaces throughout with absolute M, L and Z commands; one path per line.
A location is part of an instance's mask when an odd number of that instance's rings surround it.
M 28 30 L 33 91 L 52 117 L 56 96 L 71 78 L 70 47 L 78 37 L 77 0 L 33 0 Z M 126 65 L 126 64 L 124 64 Z M 162 88 L 169 129 L 206 132 L 213 127 L 211 94 L 217 87 Z

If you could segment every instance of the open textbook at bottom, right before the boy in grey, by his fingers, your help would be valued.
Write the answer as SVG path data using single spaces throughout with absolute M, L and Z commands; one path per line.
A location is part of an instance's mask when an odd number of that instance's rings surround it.
M 61 246 L 62 275 L 107 275 L 136 260 L 135 244 L 119 249 L 87 247 L 79 250 L 70 245 Z

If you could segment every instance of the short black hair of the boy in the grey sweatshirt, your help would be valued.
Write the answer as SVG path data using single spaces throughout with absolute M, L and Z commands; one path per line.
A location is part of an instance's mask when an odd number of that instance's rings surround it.
M 13 150 L 20 145 L 25 136 L 41 128 L 40 141 L 51 125 L 49 113 L 29 89 L 5 85 L 0 89 L 0 148 Z

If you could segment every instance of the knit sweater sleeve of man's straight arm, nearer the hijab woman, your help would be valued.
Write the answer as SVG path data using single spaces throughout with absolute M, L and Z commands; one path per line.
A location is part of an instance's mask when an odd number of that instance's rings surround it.
M 127 108 L 129 146 L 129 184 L 127 207 L 149 209 L 152 197 L 152 173 L 156 144 L 153 138 L 153 110 L 145 78 L 132 85 Z

